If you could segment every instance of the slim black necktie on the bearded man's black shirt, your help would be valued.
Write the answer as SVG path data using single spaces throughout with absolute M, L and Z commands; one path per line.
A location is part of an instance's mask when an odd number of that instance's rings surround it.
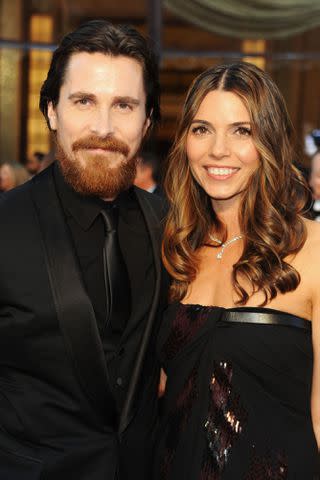
M 131 294 L 128 272 L 118 239 L 118 214 L 119 210 L 116 205 L 108 210 L 101 210 L 106 229 L 103 257 L 107 295 L 107 326 L 111 327 L 113 334 L 121 336 L 130 315 Z

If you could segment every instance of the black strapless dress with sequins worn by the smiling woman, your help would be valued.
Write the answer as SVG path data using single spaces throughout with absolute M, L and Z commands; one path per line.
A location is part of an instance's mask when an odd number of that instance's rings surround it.
M 155 480 L 318 480 L 311 323 L 268 308 L 175 303 Z

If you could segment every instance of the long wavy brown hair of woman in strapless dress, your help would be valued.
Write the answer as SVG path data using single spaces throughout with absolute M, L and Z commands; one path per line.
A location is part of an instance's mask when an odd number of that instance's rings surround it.
M 208 232 L 214 230 L 227 238 L 226 226 L 194 179 L 186 155 L 191 122 L 207 93 L 218 89 L 233 92 L 243 101 L 260 156 L 241 201 L 244 249 L 233 265 L 232 282 L 239 305 L 246 304 L 250 296 L 239 281 L 245 279 L 253 293 L 264 294 L 264 306 L 279 292 L 295 290 L 300 283 L 299 273 L 285 258 L 305 243 L 302 215 L 310 193 L 296 167 L 294 131 L 284 99 L 265 72 L 245 62 L 205 71 L 193 81 L 185 100 L 164 181 L 170 209 L 162 255 L 173 279 L 170 297 L 173 301 L 186 295 L 197 274 L 198 249 L 208 242 Z

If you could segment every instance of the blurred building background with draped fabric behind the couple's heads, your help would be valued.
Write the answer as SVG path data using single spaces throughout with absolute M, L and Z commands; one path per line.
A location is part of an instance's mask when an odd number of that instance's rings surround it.
M 247 60 L 268 71 L 288 104 L 308 168 L 320 128 L 319 0 L 0 0 L 0 163 L 38 171 L 52 145 L 38 109 L 52 50 L 97 17 L 130 23 L 159 55 L 162 124 L 147 149 L 161 163 L 192 79 Z M 128 80 L 129 81 L 129 80 Z M 320 132 L 318 132 L 320 138 Z

